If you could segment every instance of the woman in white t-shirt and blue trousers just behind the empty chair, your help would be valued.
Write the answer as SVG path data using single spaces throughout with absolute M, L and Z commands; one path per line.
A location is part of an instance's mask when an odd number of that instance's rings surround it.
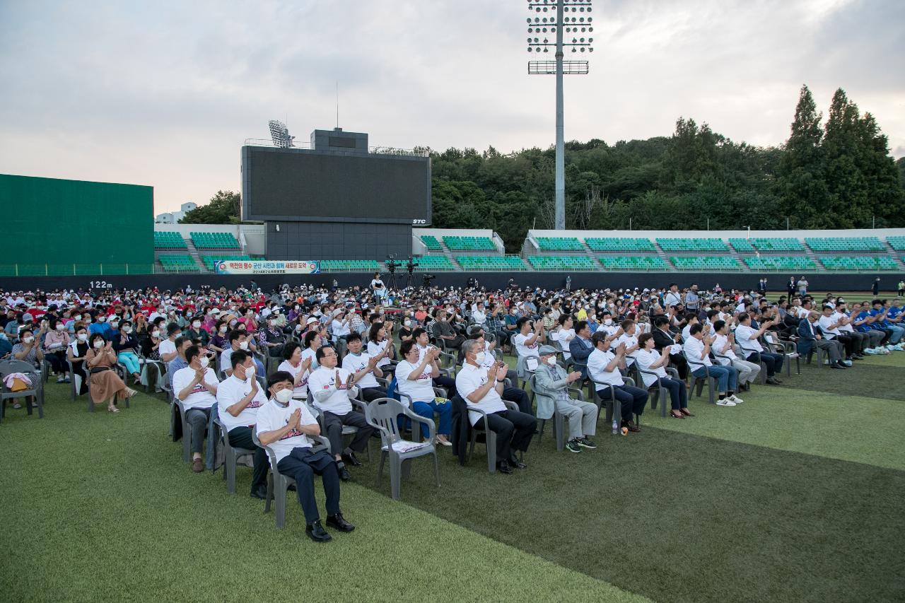
M 440 356 L 440 350 L 433 348 L 424 352 L 424 358 L 419 360 L 420 352 L 418 344 L 414 340 L 405 340 L 399 348 L 403 356 L 403 360 L 396 365 L 395 378 L 396 387 L 399 388 L 400 394 L 412 398 L 412 410 L 418 415 L 429 418 L 433 421 L 433 413 L 440 415 L 440 421 L 437 424 L 437 443 L 444 446 L 451 446 L 449 435 L 452 433 L 452 402 L 446 400 L 443 403 L 437 402 L 433 394 L 434 377 L 440 375 L 440 368 L 437 366 L 437 358 Z M 402 403 L 408 406 L 408 399 L 402 398 Z M 426 439 L 429 430 L 426 425 L 421 425 L 421 436 Z

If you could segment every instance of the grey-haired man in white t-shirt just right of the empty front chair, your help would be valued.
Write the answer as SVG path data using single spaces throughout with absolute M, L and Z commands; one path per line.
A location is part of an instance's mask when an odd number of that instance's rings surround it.
M 482 369 L 484 349 L 477 340 L 462 342 L 462 370 L 455 378 L 456 390 L 469 408 L 480 408 L 486 416 L 486 426 L 497 435 L 497 468 L 501 474 L 511 474 L 510 465 L 524 469 L 513 450 L 525 452 L 534 436 L 537 421 L 533 416 L 518 410 L 510 410 L 503 404 L 502 392 L 509 367 L 505 362 L 494 363 L 490 369 Z M 483 416 L 468 413 L 472 426 L 483 429 Z

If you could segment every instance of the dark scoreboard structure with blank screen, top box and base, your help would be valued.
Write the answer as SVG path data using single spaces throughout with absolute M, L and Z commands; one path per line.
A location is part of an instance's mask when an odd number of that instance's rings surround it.
M 268 260 L 405 257 L 412 226 L 431 223 L 431 159 L 341 129 L 310 148 L 245 145 L 242 213 L 266 225 Z

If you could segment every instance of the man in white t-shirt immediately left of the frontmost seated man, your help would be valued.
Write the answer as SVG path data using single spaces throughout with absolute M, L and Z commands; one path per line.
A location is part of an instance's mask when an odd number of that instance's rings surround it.
M 252 429 L 257 423 L 258 409 L 267 404 L 267 397 L 254 377 L 250 353 L 238 349 L 230 361 L 233 374 L 217 388 L 217 416 L 231 446 L 254 451 L 252 496 L 263 500 L 267 498 L 267 452 L 254 444 Z

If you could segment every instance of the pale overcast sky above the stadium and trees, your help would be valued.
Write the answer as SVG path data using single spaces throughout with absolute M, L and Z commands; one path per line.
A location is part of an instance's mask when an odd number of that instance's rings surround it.
M 372 146 L 554 139 L 554 78 L 527 73 L 526 0 L 0 0 L 0 172 L 151 185 L 156 212 L 240 190 L 267 121 Z M 807 83 L 837 87 L 905 155 L 903 0 L 594 0 L 566 139 L 668 136 L 680 116 L 778 145 Z M 567 57 L 569 58 L 569 57 Z

